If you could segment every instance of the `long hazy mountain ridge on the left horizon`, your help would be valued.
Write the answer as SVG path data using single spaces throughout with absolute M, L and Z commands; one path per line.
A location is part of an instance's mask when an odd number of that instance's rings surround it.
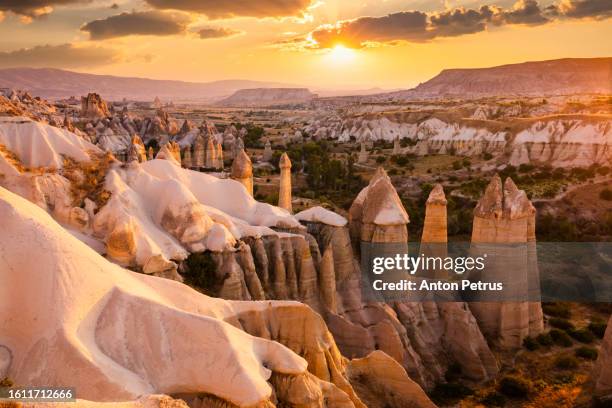
M 49 99 L 97 92 L 107 100 L 214 101 L 244 88 L 277 88 L 291 85 L 248 80 L 183 82 L 112 75 L 83 74 L 51 68 L 0 69 L 0 88 L 30 91 Z

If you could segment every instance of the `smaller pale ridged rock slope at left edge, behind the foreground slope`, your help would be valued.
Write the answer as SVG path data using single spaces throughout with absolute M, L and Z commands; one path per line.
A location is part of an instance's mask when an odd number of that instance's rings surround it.
M 62 156 L 88 161 L 100 149 L 69 132 L 25 117 L 0 118 L 0 144 L 27 167 L 62 168 Z

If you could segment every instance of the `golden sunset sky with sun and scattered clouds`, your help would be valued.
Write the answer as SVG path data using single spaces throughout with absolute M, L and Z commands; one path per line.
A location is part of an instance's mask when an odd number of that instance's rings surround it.
M 0 68 L 312 89 L 612 56 L 612 0 L 0 0 Z

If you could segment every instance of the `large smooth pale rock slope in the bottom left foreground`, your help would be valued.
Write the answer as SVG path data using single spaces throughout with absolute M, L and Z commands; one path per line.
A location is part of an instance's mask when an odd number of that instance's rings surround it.
M 248 406 L 270 397 L 272 371 L 306 370 L 286 347 L 223 321 L 271 302 L 209 298 L 122 269 L 3 188 L 0 219 L 0 345 L 9 350 L 0 376 L 73 386 L 93 401 L 197 392 Z

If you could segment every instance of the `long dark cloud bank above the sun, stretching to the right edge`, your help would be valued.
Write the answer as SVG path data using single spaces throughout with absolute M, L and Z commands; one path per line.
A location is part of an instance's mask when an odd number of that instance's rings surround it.
M 359 17 L 323 25 L 302 38 L 302 48 L 331 48 L 337 44 L 360 48 L 372 43 L 423 42 L 487 30 L 491 25 L 540 25 L 562 18 L 607 18 L 612 0 L 562 0 L 544 9 L 536 0 L 519 0 L 512 8 L 458 7 L 441 12 L 402 11 L 382 17 Z M 281 44 L 282 46 L 282 44 Z M 290 44 L 295 47 L 294 44 Z

